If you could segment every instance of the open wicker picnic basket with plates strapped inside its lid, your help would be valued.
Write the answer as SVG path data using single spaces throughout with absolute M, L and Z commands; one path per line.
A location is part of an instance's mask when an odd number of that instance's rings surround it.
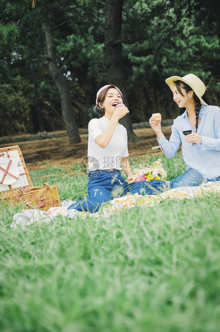
M 30 179 L 28 170 L 27 170 L 25 162 L 24 162 L 24 158 L 22 156 L 22 153 L 21 153 L 18 145 L 0 148 L 0 155 L 5 153 L 4 160 L 9 160 L 7 169 L 0 167 L 1 171 L 3 171 L 2 174 L 4 174 L 3 178 L 5 179 L 6 176 L 11 176 L 11 177 L 15 178 L 15 176 L 13 176 L 13 174 L 10 173 L 11 172 L 10 165 L 12 164 L 12 163 L 10 164 L 10 158 L 12 158 L 12 157 L 10 157 L 10 154 L 12 155 L 12 153 L 13 153 L 12 151 L 16 151 L 19 155 L 19 157 L 17 157 L 17 159 L 14 156 L 14 159 L 16 159 L 16 161 L 19 159 L 20 162 L 22 163 L 23 173 L 20 173 L 19 176 L 25 175 L 27 184 L 24 185 L 23 187 L 21 187 L 21 186 L 19 186 L 19 184 L 17 184 L 16 185 L 17 188 L 12 188 L 12 189 L 1 191 L 0 192 L 1 203 L 4 202 L 6 204 L 6 206 L 12 206 L 12 207 L 40 208 L 44 211 L 47 211 L 50 207 L 61 206 L 60 199 L 59 199 L 59 193 L 58 193 L 58 189 L 57 189 L 56 185 L 49 186 L 48 183 L 44 183 L 43 187 L 34 187 L 33 186 L 33 183 Z M 7 164 L 7 162 L 6 162 L 6 164 Z

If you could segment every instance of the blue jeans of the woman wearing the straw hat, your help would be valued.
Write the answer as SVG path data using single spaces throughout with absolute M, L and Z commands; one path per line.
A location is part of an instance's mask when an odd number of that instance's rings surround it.
M 201 185 L 203 176 L 194 168 L 189 168 L 185 173 L 177 176 L 177 178 L 170 181 L 170 189 L 177 187 L 195 187 Z

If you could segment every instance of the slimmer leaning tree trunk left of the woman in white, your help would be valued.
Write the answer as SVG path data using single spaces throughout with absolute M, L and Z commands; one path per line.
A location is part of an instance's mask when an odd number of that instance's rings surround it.
M 46 20 L 45 20 L 46 21 Z M 60 100 L 61 100 L 61 110 L 62 116 L 66 123 L 66 129 L 69 136 L 70 144 L 80 143 L 80 135 L 78 131 L 78 127 L 75 121 L 75 117 L 73 114 L 73 107 L 70 98 L 69 86 L 68 82 L 61 74 L 59 68 L 56 63 L 56 51 L 54 44 L 54 35 L 52 31 L 52 27 L 49 21 L 46 21 L 42 24 L 42 29 L 45 34 L 46 44 L 47 44 L 47 54 L 48 54 L 48 63 L 49 70 L 56 87 L 59 91 Z

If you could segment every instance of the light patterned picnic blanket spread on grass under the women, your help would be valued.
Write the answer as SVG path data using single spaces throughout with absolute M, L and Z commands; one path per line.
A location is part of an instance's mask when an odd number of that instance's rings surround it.
M 216 193 L 220 196 L 220 181 L 218 182 L 207 182 L 197 187 L 181 187 L 170 189 L 160 195 L 138 195 L 137 193 L 130 196 L 124 196 L 113 199 L 110 203 L 103 205 L 98 212 L 82 212 L 76 209 L 67 209 L 75 201 L 65 200 L 61 202 L 61 207 L 52 207 L 48 211 L 42 211 L 39 209 L 28 209 L 22 210 L 13 216 L 13 221 L 10 227 L 16 228 L 25 227 L 35 222 L 45 222 L 50 224 L 51 221 L 58 215 L 66 217 L 75 217 L 80 215 L 85 217 L 98 218 L 109 217 L 111 214 L 119 212 L 126 208 L 148 206 L 154 207 L 165 199 L 191 199 L 193 197 L 202 197 L 203 195 L 209 195 L 210 193 Z

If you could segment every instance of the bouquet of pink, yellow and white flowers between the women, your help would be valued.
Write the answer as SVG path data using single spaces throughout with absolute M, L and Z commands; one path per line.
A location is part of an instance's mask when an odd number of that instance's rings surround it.
M 133 170 L 133 174 L 136 175 L 137 181 L 151 181 L 151 180 L 162 180 L 165 181 L 164 178 L 167 175 L 167 172 L 164 170 L 163 165 L 161 163 L 161 158 L 154 161 L 152 165 L 145 165 L 144 167 L 141 164 L 138 165 L 138 168 Z

